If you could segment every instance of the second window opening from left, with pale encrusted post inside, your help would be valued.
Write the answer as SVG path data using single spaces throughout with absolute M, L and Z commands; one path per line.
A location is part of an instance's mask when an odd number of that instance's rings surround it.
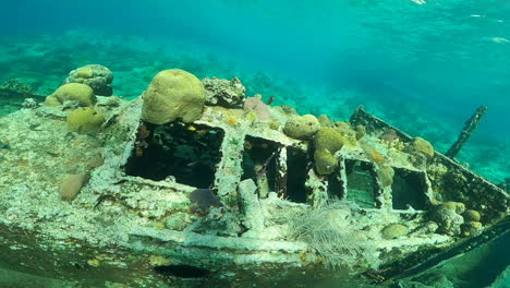
M 280 145 L 276 142 L 246 135 L 243 152 L 241 180 L 252 179 L 258 188 L 258 196 L 267 197 L 278 191 L 277 161 Z

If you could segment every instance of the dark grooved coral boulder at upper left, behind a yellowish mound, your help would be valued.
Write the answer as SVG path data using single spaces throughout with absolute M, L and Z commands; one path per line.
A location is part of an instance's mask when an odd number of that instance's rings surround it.
M 111 96 L 113 94 L 112 81 L 113 73 L 108 68 L 99 64 L 88 64 L 69 72 L 64 84 L 82 83 L 93 88 L 96 95 Z

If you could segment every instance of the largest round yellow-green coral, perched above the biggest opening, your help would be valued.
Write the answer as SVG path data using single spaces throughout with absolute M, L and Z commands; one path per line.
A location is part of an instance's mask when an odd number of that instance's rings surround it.
M 189 123 L 202 117 L 206 92 L 195 75 L 170 69 L 156 74 L 142 97 L 144 121 L 163 124 L 182 119 Z

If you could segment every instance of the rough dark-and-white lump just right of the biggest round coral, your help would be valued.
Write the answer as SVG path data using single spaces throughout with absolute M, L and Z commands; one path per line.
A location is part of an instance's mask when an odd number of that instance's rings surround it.
M 218 77 L 205 77 L 202 80 L 206 89 L 206 104 L 219 105 L 227 108 L 240 106 L 244 100 L 246 88 L 238 77 L 231 81 Z

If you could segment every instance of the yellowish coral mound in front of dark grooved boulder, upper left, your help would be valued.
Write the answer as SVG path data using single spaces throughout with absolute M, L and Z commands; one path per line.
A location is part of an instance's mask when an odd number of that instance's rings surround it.
M 45 104 L 47 106 L 59 106 L 65 101 L 72 101 L 81 107 L 93 106 L 96 103 L 96 95 L 94 95 L 93 88 L 85 84 L 69 83 L 60 86 L 46 97 Z

